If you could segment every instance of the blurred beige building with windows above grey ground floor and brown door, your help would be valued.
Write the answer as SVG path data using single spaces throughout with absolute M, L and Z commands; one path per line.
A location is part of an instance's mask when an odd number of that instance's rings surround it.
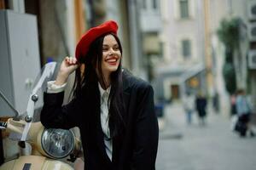
M 207 94 L 204 3 L 160 1 L 163 57 L 155 65 L 156 98 L 181 99 L 186 92 Z

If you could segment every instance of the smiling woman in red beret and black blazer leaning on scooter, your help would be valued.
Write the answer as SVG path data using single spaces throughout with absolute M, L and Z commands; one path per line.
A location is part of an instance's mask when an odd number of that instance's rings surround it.
M 45 127 L 79 127 L 86 170 L 155 169 L 158 123 L 153 88 L 122 71 L 117 30 L 110 20 L 84 34 L 76 58 L 64 59 L 55 82 L 49 82 L 41 122 Z M 73 100 L 61 106 L 73 71 Z

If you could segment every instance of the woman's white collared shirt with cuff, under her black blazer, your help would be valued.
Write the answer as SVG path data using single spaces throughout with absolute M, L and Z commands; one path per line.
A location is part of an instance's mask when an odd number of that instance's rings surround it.
M 67 83 L 58 86 L 54 84 L 55 81 L 50 81 L 47 83 L 47 93 L 49 94 L 55 94 L 59 93 L 61 91 L 64 91 L 66 88 Z M 108 97 L 110 94 L 111 87 L 109 87 L 107 90 L 104 90 L 101 87 L 100 82 L 98 82 L 100 94 L 101 94 L 101 125 L 102 125 L 102 131 L 104 133 L 104 144 L 105 144 L 105 150 L 109 157 L 109 159 L 112 161 L 112 150 L 113 150 L 113 141 L 110 138 L 110 130 L 108 126 Z

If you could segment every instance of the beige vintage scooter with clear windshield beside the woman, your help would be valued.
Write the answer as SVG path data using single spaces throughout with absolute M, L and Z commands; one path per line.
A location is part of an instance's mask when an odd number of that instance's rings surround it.
M 24 114 L 18 113 L 0 91 L 1 102 L 15 115 L 7 122 L 0 122 L 0 128 L 9 132 L 9 139 L 16 140 L 20 148 L 20 156 L 3 163 L 0 170 L 73 169 L 72 162 L 81 148 L 79 139 L 71 130 L 45 128 L 39 120 L 47 82 L 55 80 L 58 69 L 55 62 L 44 65 L 33 83 Z

